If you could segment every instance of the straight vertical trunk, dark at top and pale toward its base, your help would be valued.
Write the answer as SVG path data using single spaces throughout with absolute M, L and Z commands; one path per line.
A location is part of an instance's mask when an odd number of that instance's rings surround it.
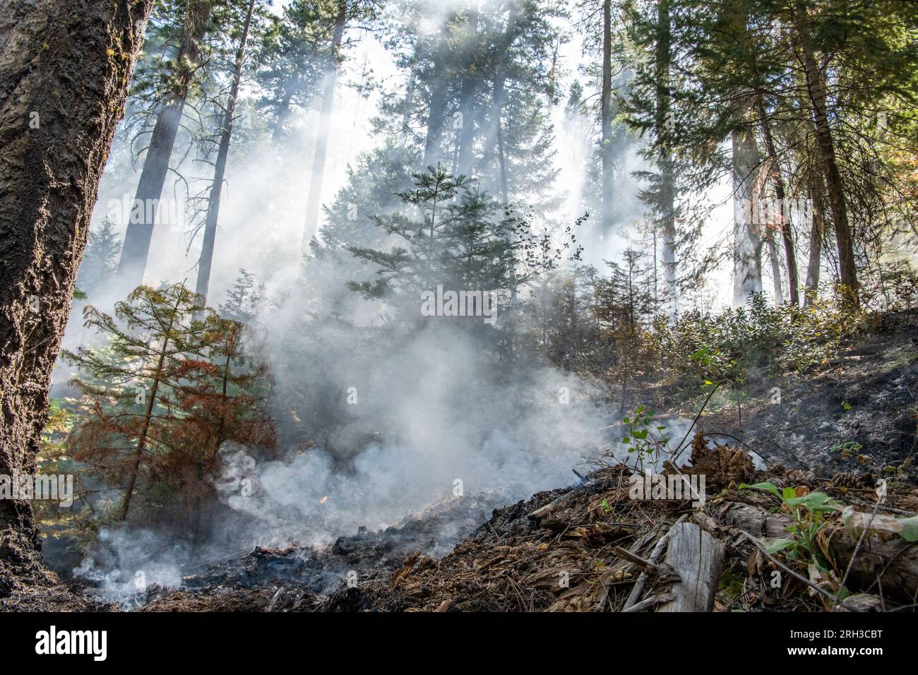
M 668 129 L 670 119 L 669 62 L 670 28 L 669 0 L 658 0 L 656 4 L 656 134 L 660 142 L 660 195 L 659 217 L 663 239 L 663 278 L 666 284 L 668 311 L 670 316 L 678 313 L 676 288 L 676 177 Z

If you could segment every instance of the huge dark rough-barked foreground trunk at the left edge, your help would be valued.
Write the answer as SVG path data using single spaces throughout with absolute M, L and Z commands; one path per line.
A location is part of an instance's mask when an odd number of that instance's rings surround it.
M 0 2 L 0 474 L 34 474 L 99 177 L 153 0 Z M 0 500 L 0 597 L 52 583 Z

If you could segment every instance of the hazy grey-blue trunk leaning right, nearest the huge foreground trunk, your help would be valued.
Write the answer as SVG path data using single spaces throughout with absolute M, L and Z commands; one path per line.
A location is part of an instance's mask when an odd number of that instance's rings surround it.
M 201 38 L 210 16 L 211 0 L 190 3 L 183 27 L 184 36 L 175 63 L 182 73 L 177 79 L 174 91 L 166 97 L 150 137 L 137 184 L 137 194 L 130 209 L 131 219 L 121 248 L 116 284 L 127 292 L 143 283 L 143 273 L 150 254 L 150 242 L 156 213 L 162 198 L 162 186 L 169 173 L 169 159 L 175 145 L 175 137 L 182 123 L 185 100 L 191 88 L 192 75 L 185 66 L 185 60 L 196 62 L 199 58 L 197 41 Z M 139 205 L 139 207 L 138 207 Z

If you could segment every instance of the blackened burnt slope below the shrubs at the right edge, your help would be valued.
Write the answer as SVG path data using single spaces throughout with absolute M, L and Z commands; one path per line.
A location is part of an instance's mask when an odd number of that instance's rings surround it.
M 889 477 L 904 464 L 902 471 L 915 478 L 918 312 L 886 315 L 878 331 L 845 353 L 845 361 L 810 375 L 761 383 L 740 405 L 706 414 L 704 430 L 720 443 L 734 442 L 730 436 L 743 441 L 769 463 L 826 477 Z

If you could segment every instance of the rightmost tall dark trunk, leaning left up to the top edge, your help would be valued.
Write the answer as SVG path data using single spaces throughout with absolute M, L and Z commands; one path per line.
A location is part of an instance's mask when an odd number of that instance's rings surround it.
M 848 209 L 845 204 L 845 186 L 835 159 L 835 146 L 826 107 L 826 84 L 813 54 L 810 17 L 804 0 L 794 3 L 794 21 L 797 28 L 800 49 L 803 51 L 803 69 L 806 73 L 807 94 L 812 105 L 812 117 L 816 130 L 816 149 L 825 173 L 825 186 L 832 209 L 832 223 L 835 229 L 835 243 L 838 246 L 838 267 L 841 282 L 847 289 L 847 298 L 858 306 L 858 281 L 855 264 L 854 241 L 848 224 Z

